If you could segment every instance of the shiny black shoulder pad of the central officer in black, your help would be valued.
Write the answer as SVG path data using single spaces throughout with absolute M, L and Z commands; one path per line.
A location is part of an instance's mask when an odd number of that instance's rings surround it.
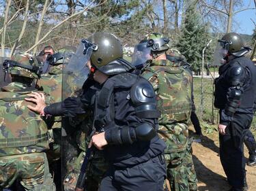
M 140 118 L 158 118 L 156 95 L 154 88 L 145 78 L 140 77 L 130 90 L 130 98 L 134 104 L 137 116 Z

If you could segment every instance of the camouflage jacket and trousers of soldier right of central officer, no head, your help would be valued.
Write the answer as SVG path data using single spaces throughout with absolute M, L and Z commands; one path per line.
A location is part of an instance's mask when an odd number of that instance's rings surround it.
M 153 60 L 152 66 L 147 67 L 142 75 L 156 91 L 161 111 L 158 135 L 167 144 L 165 160 L 171 190 L 197 190 L 187 125 L 192 103 L 192 76 L 181 67 L 171 66 L 169 60 Z

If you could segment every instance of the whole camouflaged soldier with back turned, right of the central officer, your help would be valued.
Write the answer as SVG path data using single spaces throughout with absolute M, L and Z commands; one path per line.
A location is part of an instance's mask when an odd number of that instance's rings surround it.
M 173 67 L 167 60 L 169 39 L 159 33 L 147 35 L 135 47 L 132 64 L 143 67 L 143 77 L 149 80 L 157 94 L 158 135 L 165 140 L 167 162 L 166 190 L 197 190 L 197 176 L 188 139 L 188 119 L 191 113 L 192 76 L 182 67 Z M 143 59 L 145 57 L 145 59 Z

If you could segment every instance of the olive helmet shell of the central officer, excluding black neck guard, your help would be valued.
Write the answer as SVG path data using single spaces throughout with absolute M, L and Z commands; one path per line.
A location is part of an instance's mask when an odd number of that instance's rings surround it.
M 88 37 L 88 40 L 98 46 L 97 50 L 93 50 L 91 53 L 91 64 L 96 68 L 123 57 L 122 44 L 112 34 L 97 32 Z

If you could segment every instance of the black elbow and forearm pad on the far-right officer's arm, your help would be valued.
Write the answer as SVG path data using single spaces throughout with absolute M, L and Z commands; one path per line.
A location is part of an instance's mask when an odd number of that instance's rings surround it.
M 240 105 L 240 99 L 242 96 L 242 90 L 233 89 L 229 92 L 229 98 L 225 107 L 225 114 L 227 116 L 233 116 L 236 112 L 236 108 Z

